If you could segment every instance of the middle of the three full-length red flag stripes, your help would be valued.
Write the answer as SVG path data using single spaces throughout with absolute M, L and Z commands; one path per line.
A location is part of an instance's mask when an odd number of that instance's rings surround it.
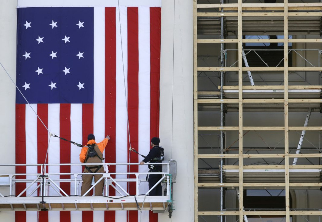
M 138 8 L 128 7 L 128 123 L 131 147 L 138 149 L 138 115 L 139 115 L 139 45 L 138 45 Z M 129 147 L 129 144 L 128 144 Z M 132 151 L 128 150 L 128 159 Z M 138 162 L 138 155 L 132 152 L 131 163 Z M 130 172 L 138 172 L 138 166 L 132 165 Z M 130 178 L 136 178 L 131 175 Z M 130 195 L 136 195 L 136 184 L 130 183 Z M 128 212 L 128 221 L 137 222 L 137 212 Z

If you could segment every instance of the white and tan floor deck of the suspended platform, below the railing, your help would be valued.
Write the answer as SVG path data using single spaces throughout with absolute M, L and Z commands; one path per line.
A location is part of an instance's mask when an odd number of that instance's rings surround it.
M 72 210 L 167 210 L 167 196 L 122 197 L 4 197 L 0 211 Z

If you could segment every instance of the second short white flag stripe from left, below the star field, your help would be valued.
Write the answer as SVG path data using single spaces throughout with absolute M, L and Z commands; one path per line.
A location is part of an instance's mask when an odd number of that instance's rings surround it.
M 48 129 L 49 132 L 54 133 L 56 135 L 59 134 L 59 104 L 48 104 Z M 58 138 L 52 137 L 50 138 L 49 148 L 48 148 L 48 163 L 49 164 L 57 164 L 59 163 L 60 153 L 59 153 L 59 142 Z M 59 173 L 59 166 L 49 166 L 49 173 Z M 51 178 L 55 181 L 59 179 L 59 175 L 52 175 Z M 58 186 L 60 183 L 56 183 Z M 52 185 L 54 187 L 54 185 Z M 56 187 L 55 187 L 56 188 Z M 58 190 L 58 188 L 56 188 Z M 57 196 L 59 195 L 52 188 L 48 189 L 49 196 Z M 48 211 L 48 222 L 59 222 L 60 217 L 59 211 Z

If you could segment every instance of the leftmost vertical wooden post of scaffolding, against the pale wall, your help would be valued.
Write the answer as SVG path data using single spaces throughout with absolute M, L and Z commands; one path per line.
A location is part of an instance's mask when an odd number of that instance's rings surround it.
M 193 0 L 194 35 L 194 222 L 198 222 L 198 84 L 197 84 L 197 0 Z

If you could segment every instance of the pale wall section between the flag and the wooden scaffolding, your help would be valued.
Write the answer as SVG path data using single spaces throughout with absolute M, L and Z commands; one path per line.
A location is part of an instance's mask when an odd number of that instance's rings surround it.
M 160 144 L 177 161 L 173 220 L 194 220 L 193 1 L 162 0 Z

